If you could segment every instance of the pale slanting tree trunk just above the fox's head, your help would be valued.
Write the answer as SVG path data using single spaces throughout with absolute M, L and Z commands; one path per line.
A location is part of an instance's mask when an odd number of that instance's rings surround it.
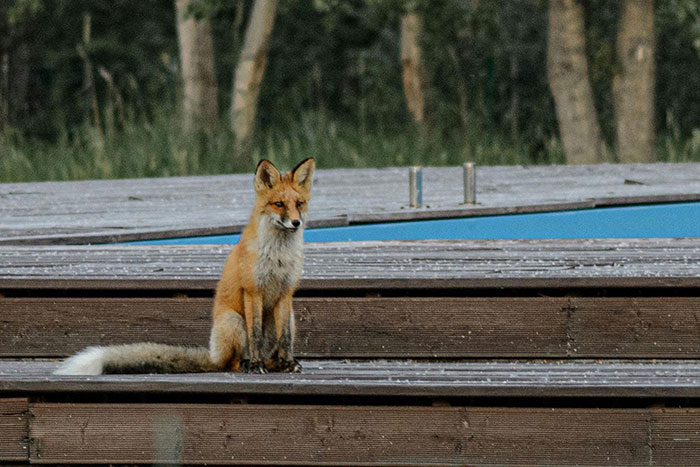
M 236 154 L 250 151 L 260 85 L 267 64 L 267 47 L 275 23 L 277 0 L 255 0 L 246 28 L 233 85 L 231 129 L 236 135 Z

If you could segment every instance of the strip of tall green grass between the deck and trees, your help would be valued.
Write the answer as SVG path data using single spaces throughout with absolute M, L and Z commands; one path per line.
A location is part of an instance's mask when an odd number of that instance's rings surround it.
M 112 135 L 85 125 L 64 131 L 52 142 L 1 133 L 0 182 L 249 172 L 260 158 L 288 168 L 309 156 L 321 168 L 457 165 L 466 160 L 479 165 L 564 162 L 557 139 L 528 146 L 476 130 L 462 134 L 421 132 L 410 124 L 358 126 L 323 113 L 304 114 L 286 126 L 259 128 L 252 153 L 237 155 L 228 129 L 188 136 L 180 131 L 175 115 L 163 113 L 150 123 L 127 122 Z M 700 161 L 700 131 L 690 139 L 659 137 L 657 153 L 661 161 Z

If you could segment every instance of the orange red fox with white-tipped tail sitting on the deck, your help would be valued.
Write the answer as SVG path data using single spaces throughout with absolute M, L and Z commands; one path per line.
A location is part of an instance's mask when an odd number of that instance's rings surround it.
M 281 174 L 268 160 L 258 163 L 249 222 L 216 286 L 209 348 L 151 342 L 88 347 L 54 373 L 300 372 L 292 297 L 301 281 L 315 164 L 307 158 Z

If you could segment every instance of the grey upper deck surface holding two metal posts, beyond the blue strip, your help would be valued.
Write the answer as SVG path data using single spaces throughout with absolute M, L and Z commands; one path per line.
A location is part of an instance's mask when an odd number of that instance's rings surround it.
M 343 225 L 700 199 L 700 164 L 480 167 L 475 206 L 460 205 L 461 177 L 460 167 L 426 167 L 426 207 L 409 210 L 406 168 L 319 170 L 310 218 Z M 237 232 L 253 196 L 252 174 L 0 184 L 0 243 Z

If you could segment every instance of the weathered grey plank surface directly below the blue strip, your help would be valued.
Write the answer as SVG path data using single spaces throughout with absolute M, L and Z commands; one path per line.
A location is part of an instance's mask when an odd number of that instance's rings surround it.
M 211 290 L 226 245 L 0 247 L 3 289 Z M 698 288 L 700 239 L 311 243 L 302 289 Z

